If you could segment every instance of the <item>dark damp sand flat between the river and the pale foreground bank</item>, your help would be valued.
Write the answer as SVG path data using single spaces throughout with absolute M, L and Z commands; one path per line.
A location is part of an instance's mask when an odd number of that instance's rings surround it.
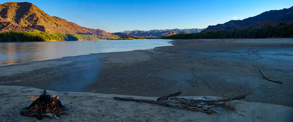
M 158 97 L 232 96 L 293 106 L 293 39 L 174 40 L 174 46 L 0 66 L 0 85 Z M 258 68 L 268 78 L 262 78 Z

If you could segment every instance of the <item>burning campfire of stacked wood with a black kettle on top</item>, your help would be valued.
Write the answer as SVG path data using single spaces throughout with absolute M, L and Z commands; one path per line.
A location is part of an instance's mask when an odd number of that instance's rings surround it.
M 51 119 L 60 119 L 60 115 L 68 114 L 67 112 L 62 112 L 64 108 L 65 106 L 62 105 L 59 96 L 54 95 L 51 97 L 44 89 L 40 97 L 28 107 L 24 107 L 20 114 L 26 117 L 37 117 L 39 120 L 43 116 Z

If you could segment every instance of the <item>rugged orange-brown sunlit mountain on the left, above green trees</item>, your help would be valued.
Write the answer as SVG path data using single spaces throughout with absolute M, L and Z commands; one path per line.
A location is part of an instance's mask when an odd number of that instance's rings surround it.
M 85 28 L 59 17 L 51 17 L 29 2 L 0 4 L 0 32 L 4 31 L 58 32 L 117 37 L 101 29 Z

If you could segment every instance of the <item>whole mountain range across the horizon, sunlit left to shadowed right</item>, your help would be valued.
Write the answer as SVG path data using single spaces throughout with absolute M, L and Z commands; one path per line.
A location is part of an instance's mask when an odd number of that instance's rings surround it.
M 235 28 L 260 27 L 266 24 L 278 25 L 280 22 L 293 23 L 293 7 L 282 10 L 271 10 L 260 15 L 244 20 L 230 20 L 223 24 L 210 25 L 203 29 L 165 29 L 165 30 L 133 30 L 118 33 L 108 33 L 101 29 L 91 29 L 82 27 L 76 23 L 64 20 L 59 17 L 50 16 L 40 8 L 29 2 L 7 2 L 0 4 L 0 32 L 6 31 L 28 31 L 28 32 L 48 32 L 65 34 L 85 34 L 102 37 L 119 37 L 132 39 L 139 38 L 161 38 L 173 34 L 189 34 L 208 31 L 232 30 Z M 129 37 L 131 36 L 131 37 Z M 116 38 L 118 37 L 118 38 Z

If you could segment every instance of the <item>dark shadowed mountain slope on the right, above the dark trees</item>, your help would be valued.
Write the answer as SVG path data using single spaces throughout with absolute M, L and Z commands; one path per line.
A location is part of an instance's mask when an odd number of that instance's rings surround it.
M 287 24 L 293 23 L 293 6 L 288 9 L 284 8 L 281 10 L 266 11 L 257 16 L 250 17 L 244 20 L 230 20 L 224 24 L 210 25 L 202 32 L 231 30 L 235 28 L 244 29 L 249 27 L 259 27 L 266 24 L 276 26 L 280 22 L 284 22 Z

